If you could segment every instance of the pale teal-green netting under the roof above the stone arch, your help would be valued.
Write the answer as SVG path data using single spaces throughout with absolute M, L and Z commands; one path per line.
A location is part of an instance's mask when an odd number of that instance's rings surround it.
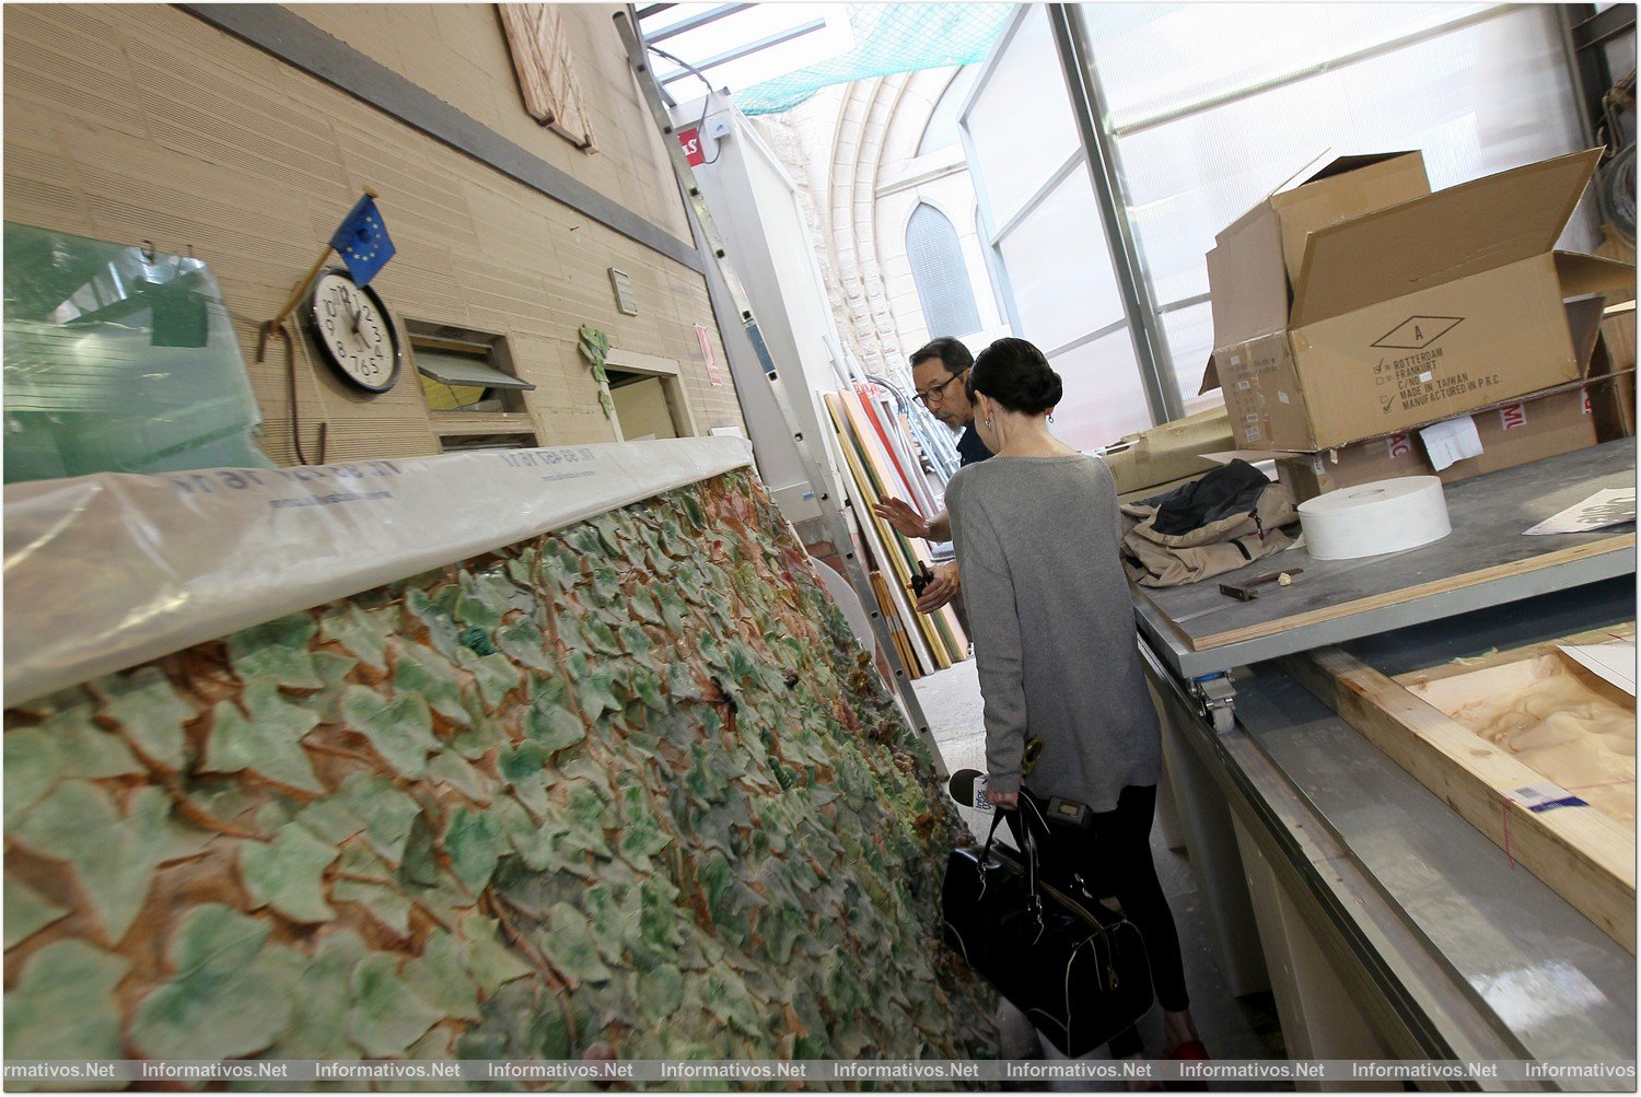
M 798 72 L 735 92 L 748 115 L 778 115 L 832 84 L 983 61 L 1017 5 L 852 3 L 855 48 Z

